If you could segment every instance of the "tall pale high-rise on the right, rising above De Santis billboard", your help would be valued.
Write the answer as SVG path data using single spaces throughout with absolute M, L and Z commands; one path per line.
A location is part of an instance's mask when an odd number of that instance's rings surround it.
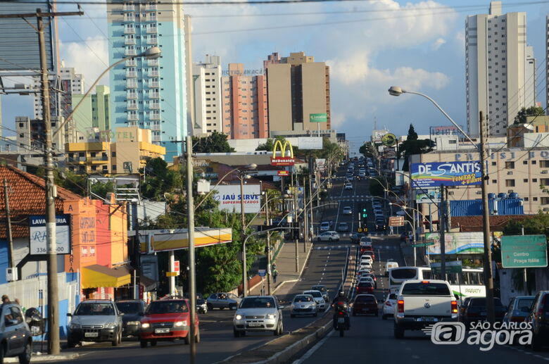
M 492 1 L 488 14 L 469 15 L 465 52 L 469 134 L 479 135 L 483 111 L 489 135 L 505 136 L 519 110 L 535 104 L 535 62 L 526 45 L 526 13 L 502 14 L 501 1 Z

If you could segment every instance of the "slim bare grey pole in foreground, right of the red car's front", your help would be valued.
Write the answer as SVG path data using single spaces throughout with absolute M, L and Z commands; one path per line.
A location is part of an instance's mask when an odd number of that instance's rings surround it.
M 194 267 L 194 199 L 193 199 L 193 144 L 192 137 L 187 136 L 187 237 L 189 238 L 189 335 L 190 364 L 196 363 L 196 272 Z

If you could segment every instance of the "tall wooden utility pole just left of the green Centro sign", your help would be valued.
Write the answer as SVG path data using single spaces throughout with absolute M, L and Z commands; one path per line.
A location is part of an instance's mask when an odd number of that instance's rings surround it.
M 493 303 L 493 275 L 492 275 L 492 251 L 490 246 L 490 211 L 488 210 L 488 171 L 486 170 L 486 130 L 484 129 L 484 114 L 479 113 L 480 127 L 480 161 L 482 170 L 481 194 L 482 194 L 482 230 L 484 236 L 484 285 L 486 286 L 486 319 L 493 324 L 496 313 Z

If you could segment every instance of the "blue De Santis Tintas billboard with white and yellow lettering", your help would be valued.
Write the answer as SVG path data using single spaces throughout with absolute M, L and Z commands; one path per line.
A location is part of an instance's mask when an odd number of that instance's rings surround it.
M 481 184 L 480 161 L 412 163 L 412 188 Z

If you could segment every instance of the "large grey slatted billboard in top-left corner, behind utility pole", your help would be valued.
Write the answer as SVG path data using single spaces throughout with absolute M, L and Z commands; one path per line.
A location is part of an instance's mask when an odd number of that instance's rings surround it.
M 54 11 L 53 0 L 32 1 L 25 4 L 22 1 L 9 1 L 0 4 L 0 14 L 36 13 L 39 8 L 46 13 Z M 36 18 L 27 19 L 37 26 Z M 44 37 L 46 39 L 46 66 L 49 72 L 55 71 L 57 62 L 56 18 L 44 18 Z M 0 22 L 0 71 L 23 71 L 40 69 L 40 51 L 38 35 L 22 18 L 4 18 Z

